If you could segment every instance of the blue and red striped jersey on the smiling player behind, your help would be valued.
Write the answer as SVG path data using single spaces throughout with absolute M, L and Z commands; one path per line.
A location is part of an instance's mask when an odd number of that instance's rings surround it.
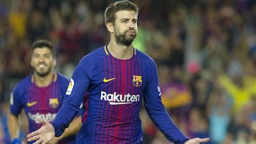
M 18 116 L 21 109 L 24 109 L 28 117 L 28 131 L 36 131 L 41 128 L 38 118 L 43 118 L 46 121 L 53 121 L 55 118 L 63 104 L 69 81 L 62 74 L 55 73 L 53 82 L 47 87 L 37 87 L 33 75 L 26 77 L 14 87 L 11 93 L 11 113 Z M 75 143 L 75 136 L 63 139 L 60 143 Z

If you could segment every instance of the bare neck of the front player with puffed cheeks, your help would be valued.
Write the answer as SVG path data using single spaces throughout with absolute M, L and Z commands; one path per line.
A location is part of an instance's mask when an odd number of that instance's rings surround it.
M 119 60 L 129 60 L 134 54 L 132 45 L 117 45 L 116 43 L 110 42 L 107 45 L 107 49 L 113 57 Z

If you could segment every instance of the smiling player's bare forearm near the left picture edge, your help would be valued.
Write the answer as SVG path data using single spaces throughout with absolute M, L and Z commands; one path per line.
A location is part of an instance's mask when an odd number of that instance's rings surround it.
M 8 123 L 7 126 L 8 126 L 11 140 L 14 140 L 14 138 L 18 138 L 19 127 L 20 127 L 18 123 L 18 117 L 9 113 L 7 123 Z

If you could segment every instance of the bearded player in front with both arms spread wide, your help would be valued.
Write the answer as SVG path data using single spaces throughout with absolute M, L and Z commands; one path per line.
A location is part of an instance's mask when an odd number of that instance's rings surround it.
M 187 138 L 171 120 L 161 102 L 154 60 L 133 47 L 137 35 L 138 7 L 116 1 L 105 10 L 110 42 L 85 55 L 73 72 L 67 101 L 54 121 L 27 135 L 28 140 L 47 143 L 63 133 L 79 110 L 88 103 L 77 143 L 143 143 L 139 111 L 146 111 L 157 128 L 173 143 L 206 143 L 209 138 Z M 84 97 L 85 92 L 87 95 Z

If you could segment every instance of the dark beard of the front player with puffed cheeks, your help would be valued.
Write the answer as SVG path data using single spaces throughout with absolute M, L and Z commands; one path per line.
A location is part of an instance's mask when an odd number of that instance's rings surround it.
M 117 33 L 117 31 L 115 32 Z M 136 38 L 136 35 L 127 35 L 127 31 L 124 31 L 124 33 L 117 33 L 115 36 L 116 42 L 121 45 L 129 46 L 132 44 L 132 41 L 134 38 Z

